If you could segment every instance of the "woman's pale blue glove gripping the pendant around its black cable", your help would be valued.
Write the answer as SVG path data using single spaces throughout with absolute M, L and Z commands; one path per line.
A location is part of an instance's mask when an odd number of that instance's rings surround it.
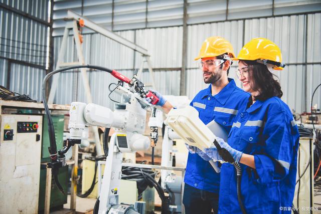
M 225 148 L 232 157 L 235 162 L 240 162 L 243 152 L 233 149 L 227 142 L 225 142 L 222 138 L 216 137 L 217 142 L 220 144 L 222 148 Z M 214 161 L 224 161 L 221 155 L 218 153 L 217 148 L 213 145 L 210 148 L 205 149 L 205 153 L 212 158 Z

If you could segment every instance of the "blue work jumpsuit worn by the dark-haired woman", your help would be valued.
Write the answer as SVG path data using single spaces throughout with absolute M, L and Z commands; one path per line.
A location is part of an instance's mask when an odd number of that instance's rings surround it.
M 299 133 L 289 107 L 279 98 L 257 100 L 239 111 L 229 133 L 228 144 L 254 155 L 253 169 L 244 164 L 241 195 L 246 213 L 290 213 L 296 179 Z M 242 213 L 232 164 L 221 167 L 219 213 Z

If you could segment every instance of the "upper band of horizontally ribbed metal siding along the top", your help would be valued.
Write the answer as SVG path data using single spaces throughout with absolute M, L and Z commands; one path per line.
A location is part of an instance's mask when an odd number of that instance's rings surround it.
M 187 0 L 187 24 L 320 11 L 320 1 Z M 55 0 L 54 36 L 63 34 L 67 10 L 113 30 L 183 25 L 184 0 Z M 251 11 L 251 13 L 248 13 Z

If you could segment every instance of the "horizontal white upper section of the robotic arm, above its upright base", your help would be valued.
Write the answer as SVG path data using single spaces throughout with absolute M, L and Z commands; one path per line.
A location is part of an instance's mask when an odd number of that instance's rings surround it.
M 69 140 L 81 140 L 83 132 L 87 131 L 86 127 L 91 125 L 107 128 L 113 127 L 116 129 L 118 135 L 126 134 L 126 142 L 121 141 L 121 137 L 118 137 L 119 140 L 117 141 L 118 149 L 122 152 L 146 150 L 150 145 L 148 137 L 141 134 L 143 130 L 142 127 L 144 127 L 144 124 L 141 123 L 145 121 L 141 118 L 141 114 L 135 114 L 134 112 L 129 113 L 129 111 L 126 110 L 113 112 L 107 107 L 94 103 L 72 102 L 69 115 Z M 139 124 L 136 124 L 136 128 L 128 123 L 129 119 L 139 121 Z

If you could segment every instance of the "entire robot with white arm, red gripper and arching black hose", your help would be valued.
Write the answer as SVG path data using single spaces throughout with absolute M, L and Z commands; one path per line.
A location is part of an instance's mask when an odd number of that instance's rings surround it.
M 70 137 L 65 142 L 65 147 L 57 152 L 55 129 L 45 99 L 45 88 L 49 77 L 52 75 L 76 68 L 91 68 L 106 71 L 120 80 L 113 91 L 122 93 L 121 101 L 115 103 L 114 111 L 107 107 L 93 103 L 73 102 L 70 106 L 69 130 Z M 124 85 L 124 83 L 128 85 Z M 102 126 L 108 130 L 115 129 L 111 136 L 108 154 L 106 157 L 106 170 L 104 171 L 101 193 L 95 207 L 99 207 L 98 213 L 138 213 L 131 205 L 118 204 L 118 189 L 121 179 L 121 164 L 123 152 L 146 150 L 150 146 L 149 138 L 143 136 L 145 129 L 146 109 L 150 107 L 144 98 L 149 97 L 152 104 L 158 102 L 158 98 L 150 91 L 144 90 L 144 84 L 137 79 L 136 73 L 132 79 L 128 79 L 114 70 L 99 66 L 71 66 L 49 73 L 43 81 L 43 102 L 48 116 L 48 129 L 50 138 L 50 158 L 48 164 L 52 168 L 54 180 L 63 191 L 58 180 L 58 171 L 66 165 L 65 153 L 75 144 L 80 144 L 83 133 L 88 126 Z M 99 205 L 98 205 L 99 204 Z M 95 208 L 95 210 L 97 210 Z

